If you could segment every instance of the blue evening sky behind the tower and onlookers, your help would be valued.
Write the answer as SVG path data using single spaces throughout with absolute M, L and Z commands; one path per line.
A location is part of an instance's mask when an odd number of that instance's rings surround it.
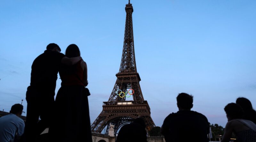
M 88 66 L 91 122 L 119 71 L 128 0 L 0 2 L 0 110 L 25 100 L 33 60 L 49 43 L 75 43 Z M 194 95 L 192 110 L 225 126 L 224 107 L 256 106 L 256 1 L 131 0 L 137 71 L 157 126 Z M 57 90 L 60 79 L 57 80 Z M 23 101 L 26 112 L 26 101 Z M 47 104 L 45 104 L 47 105 Z

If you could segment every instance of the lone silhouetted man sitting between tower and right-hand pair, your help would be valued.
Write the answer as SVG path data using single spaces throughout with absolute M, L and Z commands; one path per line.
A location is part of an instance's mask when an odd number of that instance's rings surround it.
M 210 126 L 207 118 L 193 108 L 193 96 L 180 93 L 177 96 L 179 111 L 172 113 L 164 119 L 161 133 L 166 142 L 208 142 Z

